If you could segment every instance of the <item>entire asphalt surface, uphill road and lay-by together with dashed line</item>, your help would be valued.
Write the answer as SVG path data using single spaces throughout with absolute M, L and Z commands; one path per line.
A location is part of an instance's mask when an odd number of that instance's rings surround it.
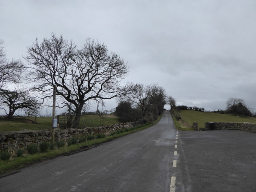
M 0 178 L 0 192 L 255 192 L 256 134 L 146 130 Z

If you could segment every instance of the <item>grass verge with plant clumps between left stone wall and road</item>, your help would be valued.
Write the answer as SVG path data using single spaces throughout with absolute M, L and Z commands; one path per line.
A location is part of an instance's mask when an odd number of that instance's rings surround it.
M 81 150 L 86 150 L 86 148 L 97 146 L 98 144 L 102 144 L 104 142 L 108 142 L 114 140 L 116 138 L 146 129 L 154 124 L 157 124 L 159 120 L 162 118 L 160 116 L 156 121 L 150 122 L 148 124 L 143 124 L 140 126 L 136 126 L 133 130 L 124 130 L 121 133 L 109 135 L 104 138 L 98 138 L 94 140 L 87 140 L 84 142 L 79 142 L 77 144 L 72 144 L 68 146 L 67 144 L 60 148 L 54 148 L 54 150 L 47 150 L 44 153 L 36 153 L 36 154 L 23 154 L 21 157 L 12 158 L 10 160 L 1 161 L 0 163 L 0 175 L 6 174 L 8 172 L 23 168 L 25 166 L 29 166 L 30 164 L 40 162 L 47 159 L 55 158 L 60 155 L 68 155 L 74 152 L 79 152 Z

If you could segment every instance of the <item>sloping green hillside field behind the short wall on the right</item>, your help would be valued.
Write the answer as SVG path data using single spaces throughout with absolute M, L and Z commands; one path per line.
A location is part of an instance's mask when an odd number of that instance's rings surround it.
M 195 110 L 180 110 L 180 116 L 185 122 L 191 126 L 194 121 L 198 123 L 198 127 L 204 127 L 205 122 L 249 122 L 256 123 L 256 118 L 239 116 L 232 114 L 218 114 L 213 112 L 199 112 Z

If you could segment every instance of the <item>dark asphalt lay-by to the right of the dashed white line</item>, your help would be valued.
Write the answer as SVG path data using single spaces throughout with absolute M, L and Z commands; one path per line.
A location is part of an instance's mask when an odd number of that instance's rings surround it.
M 256 134 L 180 132 L 176 191 L 256 192 Z

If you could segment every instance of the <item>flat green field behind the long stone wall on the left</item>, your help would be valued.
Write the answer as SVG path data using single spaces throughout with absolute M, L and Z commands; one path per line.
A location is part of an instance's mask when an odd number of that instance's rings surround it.
M 35 118 L 30 118 L 35 121 Z M 26 122 L 26 120 L 21 120 L 20 118 L 14 118 L 14 120 L 3 120 L 0 118 L 0 132 L 8 131 L 19 131 L 19 130 L 43 130 L 52 128 L 52 117 L 38 117 L 36 119 L 38 124 Z M 101 118 L 99 115 L 86 115 L 80 120 L 80 128 L 85 127 L 96 127 L 104 125 L 112 125 L 119 123 L 118 118 L 113 115 L 107 115 Z

